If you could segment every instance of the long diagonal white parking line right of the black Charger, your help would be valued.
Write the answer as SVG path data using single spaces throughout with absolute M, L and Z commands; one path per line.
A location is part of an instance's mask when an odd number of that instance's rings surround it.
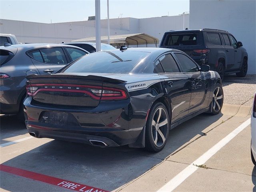
M 218 152 L 222 147 L 224 147 L 230 140 L 232 140 L 237 134 L 239 134 L 244 128 L 250 125 L 250 119 L 246 120 L 243 124 L 238 126 L 234 131 L 228 134 L 225 138 L 220 140 L 216 145 L 210 148 L 207 152 L 205 152 L 202 156 L 200 156 L 197 160 L 195 160 L 192 164 L 186 167 L 182 172 L 176 175 L 172 180 L 166 183 L 162 188 L 158 190 L 158 192 L 171 192 L 176 187 L 178 187 L 186 178 L 188 178 L 192 173 L 194 173 L 198 166 L 195 165 L 202 165 L 207 160 L 209 160 L 216 152 Z M 194 164 L 194 165 L 193 165 Z

